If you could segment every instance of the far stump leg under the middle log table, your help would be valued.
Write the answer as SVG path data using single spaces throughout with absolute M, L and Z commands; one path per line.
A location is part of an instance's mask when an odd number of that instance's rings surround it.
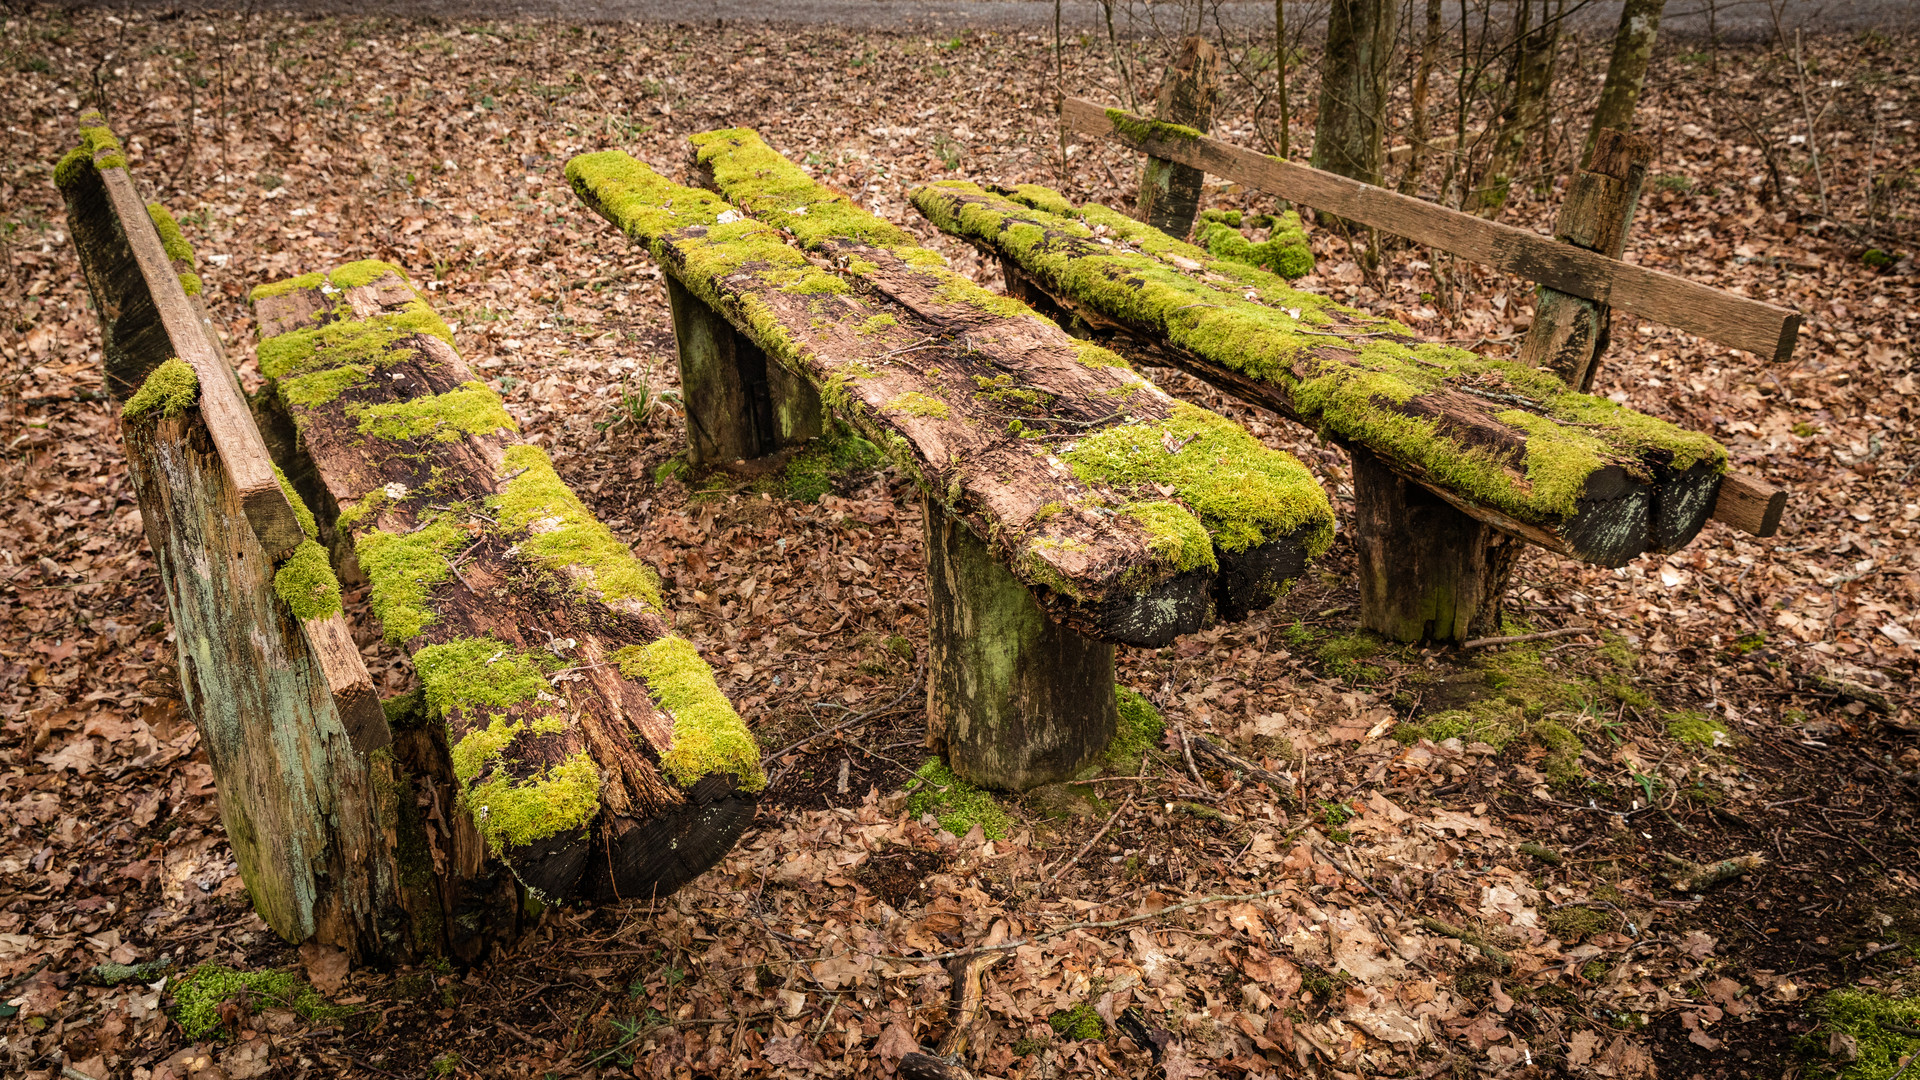
M 826 411 L 810 382 L 770 361 L 760 346 L 666 275 L 687 409 L 687 461 L 753 461 L 822 432 Z

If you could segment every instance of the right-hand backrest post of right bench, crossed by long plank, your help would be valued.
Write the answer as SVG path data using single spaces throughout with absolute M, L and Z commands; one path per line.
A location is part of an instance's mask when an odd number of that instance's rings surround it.
M 1553 234 L 1561 240 L 1619 259 L 1626 231 L 1640 204 L 1653 142 L 1644 135 L 1601 131 L 1594 160 L 1567 184 Z M 1546 367 L 1576 390 L 1594 388 L 1599 356 L 1607 352 L 1613 307 L 1546 284 L 1536 290 L 1534 325 L 1521 342 L 1521 363 Z

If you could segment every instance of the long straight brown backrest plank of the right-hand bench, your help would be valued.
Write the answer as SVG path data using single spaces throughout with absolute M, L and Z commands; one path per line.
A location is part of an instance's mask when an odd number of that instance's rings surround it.
M 1611 304 L 1718 344 L 1770 357 L 1793 354 L 1801 315 L 1788 307 L 1636 267 L 1559 244 L 1548 236 L 1484 221 L 1471 213 L 1350 181 L 1334 173 L 1256 154 L 1208 136 L 1187 136 L 1154 121 L 1068 98 L 1062 115 L 1091 138 L 1114 138 L 1133 150 L 1206 169 L 1327 213 L 1515 273 L 1561 292 Z

